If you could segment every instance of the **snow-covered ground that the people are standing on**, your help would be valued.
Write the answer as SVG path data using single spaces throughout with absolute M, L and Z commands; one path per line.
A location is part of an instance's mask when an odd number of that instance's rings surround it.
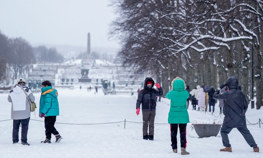
M 224 148 L 220 133 L 216 137 L 198 138 L 195 130 L 191 131 L 190 129 L 191 123 L 188 123 L 186 151 L 190 152 L 190 155 L 180 155 L 180 149 L 178 150 L 178 154 L 176 154 L 173 153 L 170 146 L 170 125 L 167 122 L 170 108 L 170 101 L 168 99 L 162 98 L 161 102 L 157 103 L 154 141 L 150 141 L 143 140 L 142 113 L 140 111 L 138 116 L 135 113 L 136 95 L 104 95 L 101 89 L 98 90 L 98 94 L 94 94 L 94 90 L 87 92 L 84 87 L 81 90 L 79 88 L 75 88 L 74 90 L 57 90 L 59 93 L 60 116 L 57 117 L 55 128 L 63 139 L 59 143 L 54 143 L 55 137 L 52 135 L 51 144 L 40 143 L 45 140 L 45 128 L 44 118 L 38 117 L 39 108 L 37 108 L 36 118 L 34 113 L 31 113 L 31 120 L 29 122 L 28 143 L 30 143 L 30 146 L 23 146 L 20 140 L 19 143 L 12 144 L 13 121 L 8 120 L 11 117 L 11 103 L 7 101 L 8 94 L 0 94 L 1 158 L 263 157 L 263 125 L 261 125 L 261 128 L 259 128 L 259 124 L 248 125 L 248 129 L 260 148 L 260 152 L 255 153 L 235 128 L 229 134 L 232 152 L 220 152 L 219 149 Z M 39 107 L 40 93 L 35 93 L 34 95 Z M 191 105 L 189 106 L 188 113 L 190 122 L 199 118 L 205 120 L 223 120 L 224 118 L 224 115 L 221 118 L 219 116 L 218 103 L 215 106 L 214 114 L 219 117 L 192 111 Z M 260 110 L 256 110 L 255 108 L 251 109 L 249 105 L 246 118 L 250 123 L 257 123 L 259 118 L 263 120 L 263 107 Z M 124 128 L 125 119 L 129 122 L 125 123 Z M 19 131 L 19 139 L 21 139 L 21 131 Z M 179 134 L 177 139 L 179 142 L 178 146 L 180 147 Z

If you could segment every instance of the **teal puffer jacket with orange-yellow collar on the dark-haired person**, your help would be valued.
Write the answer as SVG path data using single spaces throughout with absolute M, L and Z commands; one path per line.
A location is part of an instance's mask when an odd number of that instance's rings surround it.
M 45 116 L 59 116 L 58 91 L 51 86 L 41 88 L 42 93 L 39 102 L 39 114 Z

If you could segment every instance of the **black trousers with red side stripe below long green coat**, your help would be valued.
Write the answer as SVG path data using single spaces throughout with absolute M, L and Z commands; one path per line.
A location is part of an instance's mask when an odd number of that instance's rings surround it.
M 180 143 L 181 147 L 186 148 L 186 125 L 187 123 L 179 123 L 179 124 L 170 124 L 171 128 L 171 146 L 172 149 L 177 149 L 177 131 L 179 126 L 180 131 Z

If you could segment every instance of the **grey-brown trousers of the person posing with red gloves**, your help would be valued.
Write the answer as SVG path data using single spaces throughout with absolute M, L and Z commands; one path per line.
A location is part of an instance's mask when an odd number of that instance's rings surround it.
M 143 136 L 148 135 L 148 125 L 149 125 L 149 135 L 154 135 L 154 118 L 156 111 L 143 111 Z

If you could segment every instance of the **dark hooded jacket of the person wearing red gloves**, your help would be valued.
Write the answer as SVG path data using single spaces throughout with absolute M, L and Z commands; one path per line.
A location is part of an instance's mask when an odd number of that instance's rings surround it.
M 146 86 L 148 81 L 152 82 L 151 88 Z M 138 99 L 136 103 L 136 109 L 140 108 L 141 111 L 155 111 L 156 110 L 156 96 L 163 95 L 163 89 L 160 87 L 158 90 L 153 88 L 154 81 L 152 78 L 146 78 L 144 81 L 144 89 L 142 89 L 138 94 Z

